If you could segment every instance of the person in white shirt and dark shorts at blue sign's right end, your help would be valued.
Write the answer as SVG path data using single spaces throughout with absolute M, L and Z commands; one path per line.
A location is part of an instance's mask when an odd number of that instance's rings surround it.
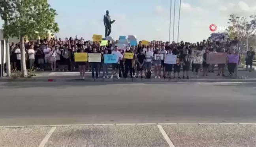
M 120 60 L 122 59 L 122 54 L 118 51 L 118 47 L 115 46 L 114 50 L 112 51 L 112 54 L 117 56 L 117 63 L 112 64 L 112 75 L 110 78 L 113 78 L 113 75 L 116 74 L 117 78 L 119 79 L 119 67 L 120 67 Z

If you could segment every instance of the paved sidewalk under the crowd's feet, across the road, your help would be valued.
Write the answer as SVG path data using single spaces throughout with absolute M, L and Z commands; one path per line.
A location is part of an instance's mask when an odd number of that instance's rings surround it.
M 209 73 L 208 76 L 202 76 L 202 73 L 199 73 L 199 78 L 190 76 L 190 79 L 182 79 L 182 73 L 181 73 L 181 79 L 178 79 L 177 77 L 175 79 L 155 79 L 154 74 L 152 74 L 151 79 L 145 79 L 145 76 L 143 79 L 140 78 L 120 78 L 117 79 L 116 76 L 114 76 L 113 79 L 105 78 L 103 79 L 102 73 L 100 73 L 100 76 L 97 79 L 92 79 L 91 72 L 86 72 L 85 79 L 80 79 L 79 72 L 38 72 L 36 76 L 31 78 L 0 78 L 0 82 L 22 82 L 22 81 L 28 81 L 28 82 L 113 82 L 113 81 L 119 81 L 119 82 L 256 82 L 256 71 L 238 71 L 238 77 L 237 79 L 233 79 L 230 77 L 222 77 L 222 76 L 216 76 L 217 72 L 215 73 Z M 192 72 L 190 71 L 189 75 L 192 75 Z M 109 76 L 110 77 L 110 76 Z

